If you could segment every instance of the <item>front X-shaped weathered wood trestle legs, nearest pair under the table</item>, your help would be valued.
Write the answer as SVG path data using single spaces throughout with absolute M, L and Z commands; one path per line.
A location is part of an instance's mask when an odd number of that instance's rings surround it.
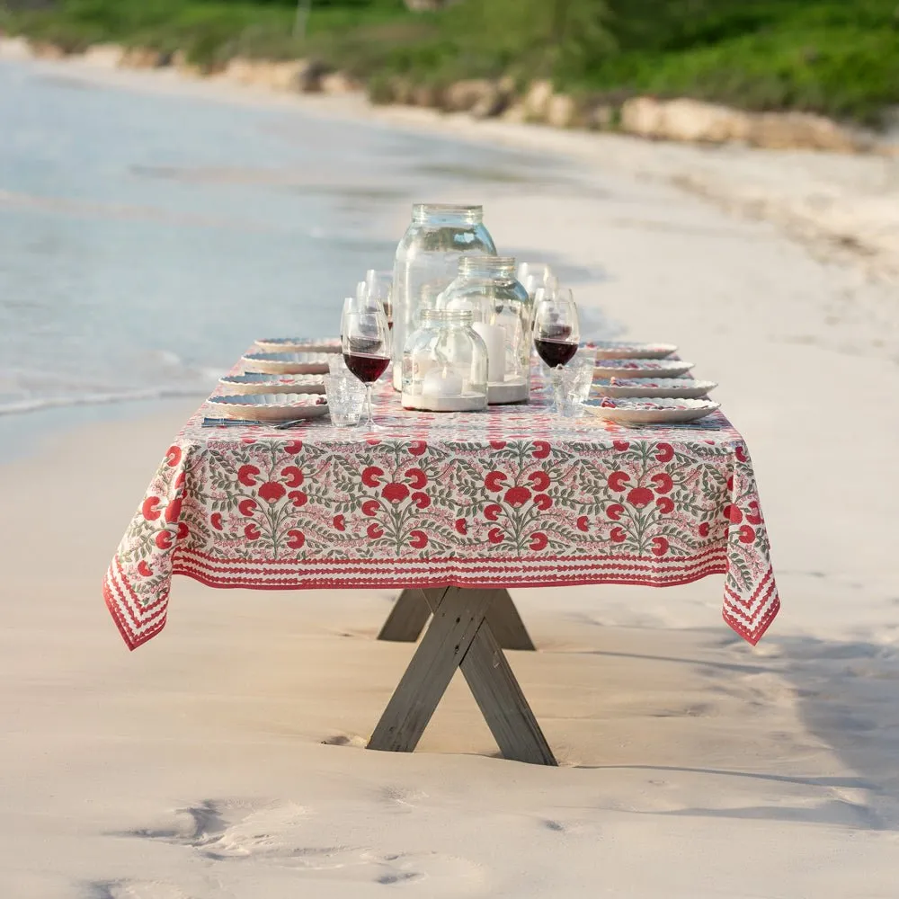
M 491 627 L 488 612 L 492 604 L 503 601 L 503 596 L 508 599 L 509 594 L 460 587 L 422 593 L 433 615 L 431 626 L 371 734 L 369 749 L 413 752 L 449 681 L 461 668 L 503 756 L 555 765 L 553 752 Z

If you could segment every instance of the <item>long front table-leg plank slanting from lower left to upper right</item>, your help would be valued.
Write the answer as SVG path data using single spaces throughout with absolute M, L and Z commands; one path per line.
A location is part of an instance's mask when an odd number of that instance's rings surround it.
M 458 587 L 424 595 L 433 610 L 431 627 L 371 734 L 369 749 L 414 750 L 494 599 L 493 591 Z

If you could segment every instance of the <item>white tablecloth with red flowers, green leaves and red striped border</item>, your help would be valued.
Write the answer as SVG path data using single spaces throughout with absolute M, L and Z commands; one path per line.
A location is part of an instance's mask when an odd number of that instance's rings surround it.
M 165 454 L 103 583 L 130 648 L 165 626 L 173 574 L 212 587 L 668 586 L 724 574 L 753 645 L 779 610 L 752 461 L 717 413 L 689 427 L 572 422 L 530 405 L 404 411 L 385 432 L 317 419 L 204 428 Z

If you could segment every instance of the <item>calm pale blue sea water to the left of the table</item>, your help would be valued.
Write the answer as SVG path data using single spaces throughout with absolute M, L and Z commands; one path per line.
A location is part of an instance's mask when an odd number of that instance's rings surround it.
M 256 337 L 336 334 L 414 201 L 552 172 L 377 123 L 0 62 L 0 420 L 201 397 Z

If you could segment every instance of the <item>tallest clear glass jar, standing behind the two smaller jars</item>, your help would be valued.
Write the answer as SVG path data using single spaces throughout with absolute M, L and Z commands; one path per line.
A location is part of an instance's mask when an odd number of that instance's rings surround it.
M 481 206 L 416 203 L 412 224 L 396 247 L 393 283 L 394 388 L 403 388 L 405 339 L 419 325 L 423 303 L 432 305 L 456 277 L 462 255 L 495 255 Z

